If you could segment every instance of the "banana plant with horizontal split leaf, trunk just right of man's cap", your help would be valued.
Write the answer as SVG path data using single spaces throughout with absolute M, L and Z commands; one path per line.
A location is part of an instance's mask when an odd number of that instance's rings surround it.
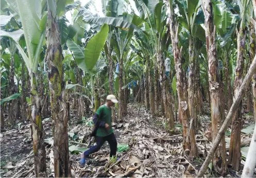
M 114 6 L 116 2 L 111 1 L 109 3 L 110 8 Z M 118 1 L 121 5 L 118 7 L 122 7 L 123 1 Z M 118 8 L 117 8 L 118 9 Z M 113 10 L 114 11 L 114 10 Z M 113 12 L 112 10 L 107 11 L 108 15 L 111 15 Z M 118 60 L 118 65 L 119 65 L 119 73 L 118 73 L 118 78 L 115 79 L 115 83 L 118 80 L 120 87 L 119 87 L 119 92 L 118 92 L 118 97 L 120 100 L 119 105 L 121 107 L 118 108 L 118 118 L 122 119 L 123 113 L 125 111 L 122 111 L 122 108 L 126 108 L 126 106 L 123 105 L 124 101 L 124 92 L 122 90 L 123 87 L 123 60 L 126 58 L 128 49 L 129 49 L 129 44 L 130 40 L 133 34 L 133 31 L 141 31 L 139 26 L 142 24 L 142 20 L 140 17 L 136 16 L 135 14 L 132 16 L 127 13 L 123 13 L 123 9 L 118 9 L 118 13 L 113 14 L 112 16 L 107 16 L 107 17 L 98 17 L 98 16 L 93 16 L 92 14 L 88 11 L 86 8 L 81 8 L 79 9 L 77 18 L 80 16 L 83 16 L 83 21 L 94 25 L 103 25 L 103 24 L 108 24 L 111 26 L 114 26 L 114 28 L 111 28 L 114 30 L 114 49 L 117 54 L 117 60 Z M 106 12 L 106 11 L 105 11 Z M 113 16 L 118 16 L 118 17 L 113 17 Z M 122 18 L 123 17 L 123 18 Z M 113 38 L 112 38 L 113 39 Z M 109 49 L 108 49 L 109 50 Z M 110 55 L 110 52 L 108 52 Z

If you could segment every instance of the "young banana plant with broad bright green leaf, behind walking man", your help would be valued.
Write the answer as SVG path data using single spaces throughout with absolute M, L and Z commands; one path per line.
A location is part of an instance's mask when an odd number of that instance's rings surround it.
M 66 42 L 67 47 L 73 52 L 75 61 L 79 68 L 90 75 L 91 79 L 91 104 L 94 100 L 94 81 L 93 76 L 104 65 L 104 60 L 99 60 L 99 55 L 104 47 L 108 35 L 108 25 L 101 26 L 99 32 L 90 39 L 86 48 L 81 48 L 73 40 L 68 39 Z

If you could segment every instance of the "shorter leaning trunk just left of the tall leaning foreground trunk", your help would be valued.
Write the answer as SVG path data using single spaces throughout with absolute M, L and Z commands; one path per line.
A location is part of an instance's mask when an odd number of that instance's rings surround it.
M 165 66 L 164 66 L 164 58 L 162 54 L 162 46 L 160 43 L 159 51 L 157 52 L 157 64 L 158 64 L 158 72 L 159 72 L 159 79 L 161 84 L 161 91 L 162 91 L 162 100 L 164 106 L 164 114 L 165 118 L 167 119 L 167 123 L 169 129 L 174 129 L 174 113 L 173 113 L 173 106 L 172 106 L 172 98 L 169 92 L 169 82 L 165 75 Z

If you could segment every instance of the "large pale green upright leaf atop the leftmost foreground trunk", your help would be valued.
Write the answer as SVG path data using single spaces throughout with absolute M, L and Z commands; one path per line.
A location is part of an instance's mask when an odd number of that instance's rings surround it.
M 22 22 L 28 57 L 18 43 L 16 43 L 16 47 L 24 58 L 30 74 L 31 70 L 33 72 L 37 70 L 41 48 L 45 43 L 45 18 L 47 16 L 42 11 L 42 2 L 40 0 L 7 0 L 7 2 L 19 14 Z

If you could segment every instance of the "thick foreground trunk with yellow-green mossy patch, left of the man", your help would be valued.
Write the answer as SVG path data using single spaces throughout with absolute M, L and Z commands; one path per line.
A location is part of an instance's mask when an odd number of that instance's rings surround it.
M 69 138 L 67 136 L 67 109 L 65 102 L 65 82 L 62 65 L 61 34 L 58 27 L 56 2 L 47 0 L 47 51 L 48 79 L 53 119 L 54 174 L 55 177 L 71 177 L 69 165 Z

